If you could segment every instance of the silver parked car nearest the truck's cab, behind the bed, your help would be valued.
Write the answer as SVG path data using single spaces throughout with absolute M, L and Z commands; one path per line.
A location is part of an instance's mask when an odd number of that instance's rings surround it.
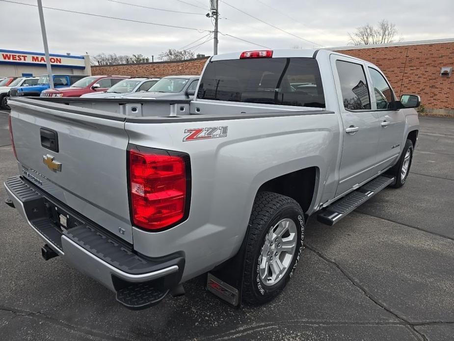
M 192 99 L 200 76 L 167 76 L 161 78 L 147 92 L 123 95 L 121 98 Z

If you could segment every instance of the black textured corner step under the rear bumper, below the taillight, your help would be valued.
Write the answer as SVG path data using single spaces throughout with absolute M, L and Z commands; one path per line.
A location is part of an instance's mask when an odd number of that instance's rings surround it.
M 131 310 L 142 310 L 154 306 L 167 295 L 169 290 L 159 290 L 149 283 L 138 283 L 117 290 L 116 299 Z

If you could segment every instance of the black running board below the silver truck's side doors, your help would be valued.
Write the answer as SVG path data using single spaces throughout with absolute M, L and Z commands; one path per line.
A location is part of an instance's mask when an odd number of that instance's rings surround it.
M 378 176 L 342 199 L 337 200 L 317 215 L 317 220 L 333 226 L 356 207 L 371 199 L 375 194 L 392 184 L 394 177 Z

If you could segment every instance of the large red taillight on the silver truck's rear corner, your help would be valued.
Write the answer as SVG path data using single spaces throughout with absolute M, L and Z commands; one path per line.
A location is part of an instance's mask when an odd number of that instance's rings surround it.
M 172 227 L 188 214 L 189 156 L 135 146 L 129 150 L 129 185 L 135 226 L 147 230 Z

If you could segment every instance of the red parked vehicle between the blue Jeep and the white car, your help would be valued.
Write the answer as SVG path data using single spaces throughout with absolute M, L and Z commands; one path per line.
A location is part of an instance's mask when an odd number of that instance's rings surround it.
M 47 89 L 41 92 L 41 97 L 80 97 L 86 93 L 106 91 L 128 76 L 88 76 L 68 87 Z M 54 84 L 64 85 L 64 84 Z

